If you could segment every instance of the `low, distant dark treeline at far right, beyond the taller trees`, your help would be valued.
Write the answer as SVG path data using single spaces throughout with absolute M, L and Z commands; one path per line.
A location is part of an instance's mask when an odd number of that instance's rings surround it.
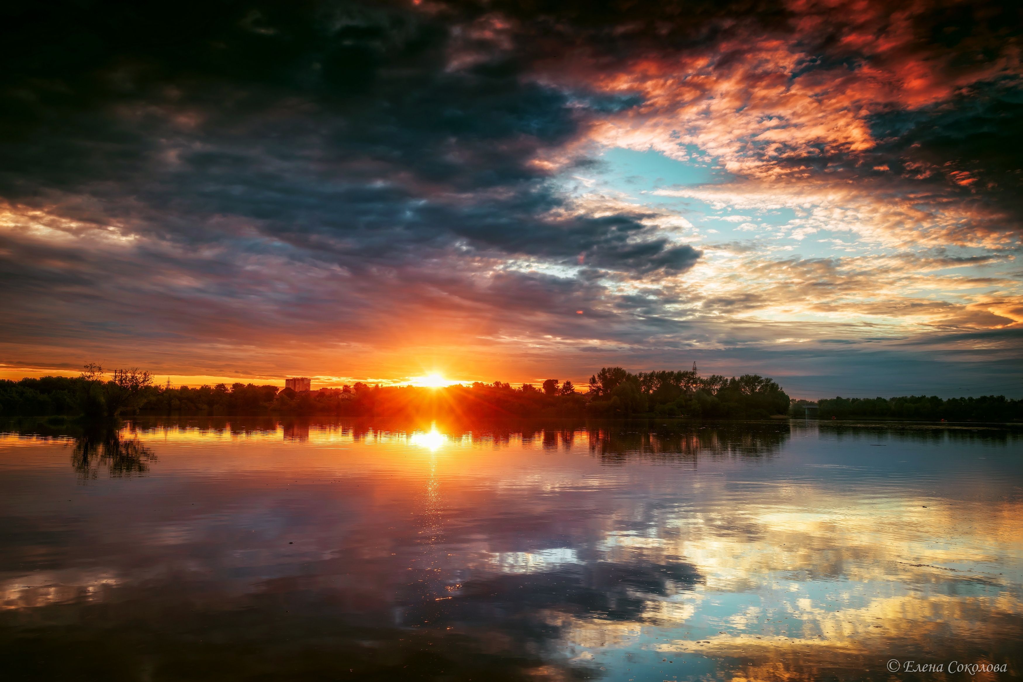
M 808 401 L 793 403 L 792 415 L 804 416 Z M 820 419 L 911 419 L 914 421 L 1023 421 L 1023 400 L 1005 396 L 948 398 L 831 398 L 817 401 Z

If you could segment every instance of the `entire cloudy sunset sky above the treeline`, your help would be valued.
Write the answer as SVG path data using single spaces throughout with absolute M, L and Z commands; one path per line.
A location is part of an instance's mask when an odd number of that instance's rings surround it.
M 0 376 L 1023 397 L 1023 5 L 6 7 Z

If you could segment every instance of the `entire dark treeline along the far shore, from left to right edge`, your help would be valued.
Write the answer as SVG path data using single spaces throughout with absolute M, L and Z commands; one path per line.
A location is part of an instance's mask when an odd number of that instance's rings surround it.
M 776 381 L 758 374 L 701 376 L 687 370 L 632 373 L 604 367 L 585 391 L 571 381 L 547 379 L 539 387 L 475 382 L 442 389 L 381 387 L 357 382 L 342 389 L 296 392 L 275 385 L 224 383 L 161 388 L 148 372 L 106 373 L 87 365 L 77 377 L 0 380 L 0 415 L 260 416 L 332 414 L 353 417 L 448 418 L 627 417 L 766 419 L 803 417 L 816 407 L 821 419 L 877 418 L 924 421 L 1023 421 L 1023 400 L 1004 396 L 952 398 L 835 398 L 816 403 L 790 400 Z

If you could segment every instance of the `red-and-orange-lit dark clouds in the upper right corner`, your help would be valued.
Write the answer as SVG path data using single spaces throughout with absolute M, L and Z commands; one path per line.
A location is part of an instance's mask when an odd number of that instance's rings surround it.
M 1019 3 L 498 6 L 538 43 L 572 45 L 544 62 L 552 78 L 642 98 L 618 121 L 633 148 L 671 153 L 670 133 L 741 175 L 955 206 L 972 223 L 949 232 L 961 241 L 1023 225 Z

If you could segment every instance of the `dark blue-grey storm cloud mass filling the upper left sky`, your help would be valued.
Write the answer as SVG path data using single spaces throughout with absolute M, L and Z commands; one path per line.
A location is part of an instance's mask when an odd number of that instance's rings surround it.
M 354 3 L 120 9 L 16 17 L 8 200 L 188 242 L 244 226 L 363 264 L 457 239 L 642 271 L 698 258 L 664 239 L 627 244 L 641 232 L 628 217 L 545 219 L 563 201 L 532 162 L 577 134 L 585 110 L 527 82 L 513 56 L 452 71 L 450 31 L 426 15 Z

